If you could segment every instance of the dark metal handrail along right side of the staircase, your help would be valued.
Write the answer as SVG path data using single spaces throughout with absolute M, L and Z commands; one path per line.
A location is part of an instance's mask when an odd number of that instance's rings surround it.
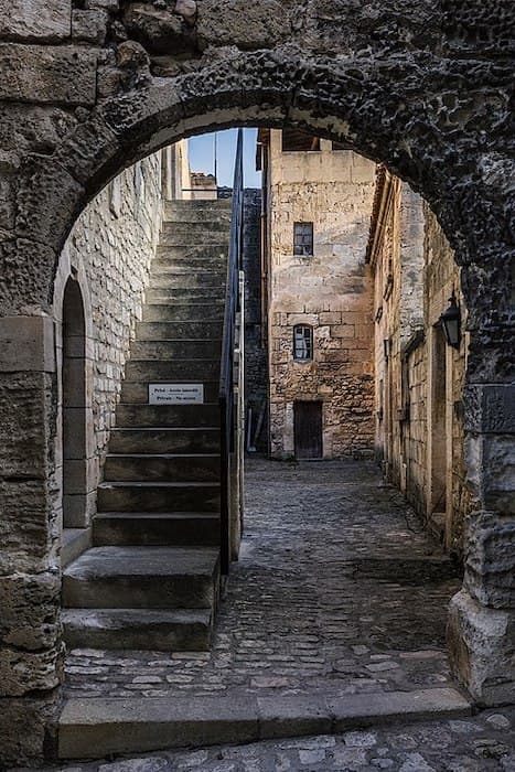
M 219 376 L 219 429 L 221 429 L 221 571 L 227 576 L 230 567 L 230 502 L 232 455 L 235 452 L 235 390 L 234 353 L 236 349 L 236 320 L 239 309 L 239 269 L 242 267 L 244 226 L 244 164 L 243 129 L 238 129 L 234 169 L 233 203 L 230 214 L 230 242 L 227 262 L 224 333 Z

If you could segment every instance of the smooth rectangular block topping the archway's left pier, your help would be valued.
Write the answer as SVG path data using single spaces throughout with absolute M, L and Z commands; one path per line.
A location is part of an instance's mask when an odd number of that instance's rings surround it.
M 54 373 L 54 323 L 50 317 L 0 319 L 0 373 Z

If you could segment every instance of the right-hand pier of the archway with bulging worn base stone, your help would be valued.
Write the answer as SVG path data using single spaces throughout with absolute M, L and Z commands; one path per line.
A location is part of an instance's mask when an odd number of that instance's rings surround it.
M 475 700 L 501 705 L 515 698 L 515 385 L 470 385 L 465 408 L 469 483 L 479 506 L 468 518 L 449 650 Z

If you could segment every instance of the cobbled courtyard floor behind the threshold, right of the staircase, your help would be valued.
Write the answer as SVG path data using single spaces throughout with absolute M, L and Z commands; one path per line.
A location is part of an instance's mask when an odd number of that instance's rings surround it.
M 242 559 L 213 651 L 74 650 L 68 696 L 342 695 L 449 683 L 447 603 L 459 577 L 374 464 L 253 459 L 246 486 Z

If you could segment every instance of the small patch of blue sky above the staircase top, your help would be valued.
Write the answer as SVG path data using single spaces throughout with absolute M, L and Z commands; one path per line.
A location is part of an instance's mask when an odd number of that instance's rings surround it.
M 215 137 L 217 146 L 218 185 L 233 186 L 237 129 L 202 135 L 190 139 L 190 165 L 193 172 L 213 174 L 215 169 Z M 257 129 L 244 129 L 245 187 L 260 187 L 261 174 L 256 171 Z

